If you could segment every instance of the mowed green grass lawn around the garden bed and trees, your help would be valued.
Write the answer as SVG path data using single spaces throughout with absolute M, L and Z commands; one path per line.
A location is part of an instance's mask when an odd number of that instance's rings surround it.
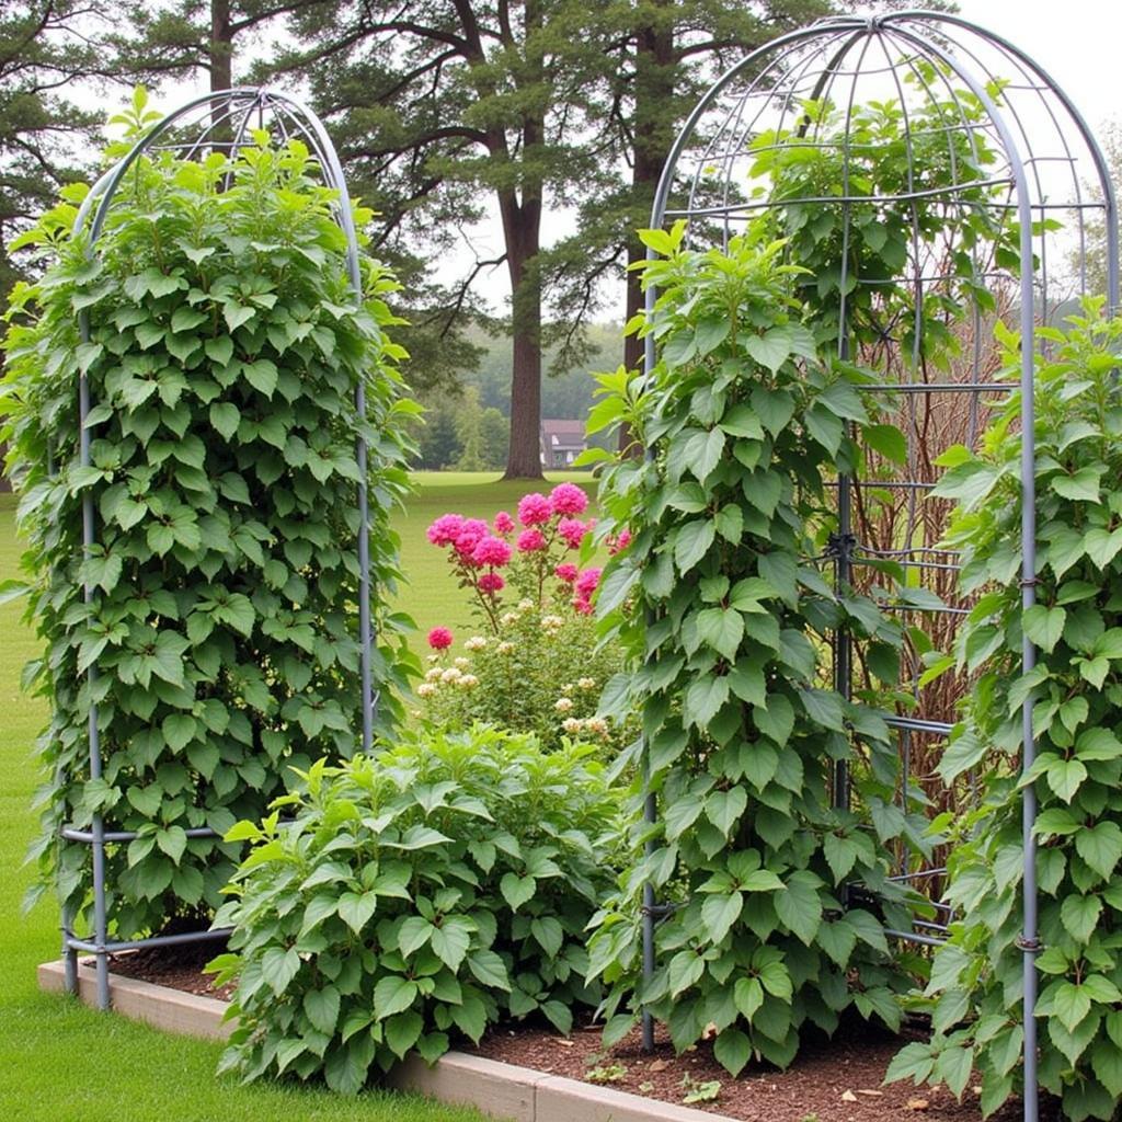
M 589 482 L 587 475 L 551 475 Z M 489 517 L 514 511 L 533 485 L 496 482 L 493 475 L 421 473 L 419 494 L 395 515 L 411 579 L 397 604 L 421 635 L 438 624 L 469 622 L 463 594 L 425 527 L 447 511 Z M 0 581 L 17 576 L 15 499 L 0 495 Z M 422 1098 L 368 1092 L 344 1100 L 298 1086 L 242 1087 L 214 1076 L 221 1046 L 167 1036 L 74 1001 L 40 994 L 35 967 L 59 951 L 58 917 L 49 900 L 29 916 L 20 900 L 33 871 L 22 864 L 36 833 L 29 808 L 39 782 L 31 758 L 46 710 L 20 692 L 19 672 L 36 653 L 20 622 L 22 603 L 0 606 L 0 1120 L 3 1122 L 481 1122 L 475 1111 Z M 459 636 L 458 636 L 459 637 Z M 423 638 L 419 640 L 423 642 Z

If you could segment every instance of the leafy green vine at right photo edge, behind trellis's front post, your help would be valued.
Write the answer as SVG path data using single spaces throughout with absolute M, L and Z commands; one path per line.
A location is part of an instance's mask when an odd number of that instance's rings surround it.
M 949 544 L 964 551 L 964 591 L 981 592 L 957 644 L 977 670 L 944 762 L 953 781 L 993 758 L 984 799 L 960 827 L 948 896 L 962 917 L 934 962 L 936 1036 L 910 1045 L 891 1075 L 960 1093 L 972 1066 L 993 1112 L 1021 1086 L 1023 953 L 1021 791 L 1038 800 L 1043 975 L 1040 1083 L 1073 1120 L 1115 1116 L 1122 1102 L 1122 320 L 1087 302 L 1067 331 L 1038 328 L 1048 357 L 1036 381 L 1037 588 L 1023 613 L 1020 395 L 974 454 L 947 453 L 939 487 L 957 498 Z M 1005 334 L 1010 376 L 1020 365 Z M 1022 628 L 1037 665 L 1022 673 Z M 1037 754 L 1024 780 L 1021 707 L 1032 698 Z M 973 1019 L 963 1026 L 967 1015 Z

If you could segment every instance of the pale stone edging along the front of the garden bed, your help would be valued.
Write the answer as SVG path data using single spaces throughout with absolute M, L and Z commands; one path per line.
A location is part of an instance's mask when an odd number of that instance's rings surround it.
M 94 1004 L 94 972 L 80 964 L 77 974 L 79 996 L 88 1005 Z M 62 963 L 40 965 L 38 980 L 40 990 L 61 993 Z M 227 1003 L 217 997 L 118 974 L 109 976 L 109 995 L 114 1012 L 166 1032 L 224 1040 L 233 1028 L 232 1022 L 222 1020 Z M 511 1122 L 733 1122 L 724 1114 L 458 1051 L 448 1052 L 433 1067 L 410 1057 L 387 1082 L 440 1102 L 476 1106 Z

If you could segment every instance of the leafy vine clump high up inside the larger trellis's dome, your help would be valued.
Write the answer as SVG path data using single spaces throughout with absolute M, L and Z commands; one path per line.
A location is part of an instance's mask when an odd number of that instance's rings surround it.
M 949 81 L 919 63 L 900 99 L 804 101 L 798 127 L 753 138 L 754 194 L 771 202 L 791 259 L 811 266 L 795 280 L 799 298 L 824 327 L 845 325 L 850 353 L 899 333 L 909 360 L 940 364 L 958 347 L 967 301 L 994 309 L 987 268 L 1018 265 L 1015 226 L 987 205 L 1001 188 L 988 182 L 999 154 L 985 109 L 968 90 L 940 100 L 932 91 Z M 1000 84 L 990 93 L 1000 99 Z M 839 190 L 856 201 L 824 201 Z M 902 204 L 912 192 L 920 201 Z M 905 278 L 925 274 L 944 279 L 917 303 Z

